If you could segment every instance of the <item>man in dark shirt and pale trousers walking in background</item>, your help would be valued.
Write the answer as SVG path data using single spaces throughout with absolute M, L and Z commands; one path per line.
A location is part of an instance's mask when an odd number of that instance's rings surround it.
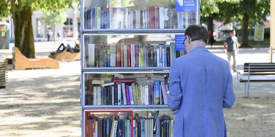
M 237 64 L 236 64 L 236 57 L 237 53 L 239 53 L 239 46 L 238 46 L 238 40 L 236 35 L 235 30 L 231 30 L 229 33 L 229 37 L 226 38 L 224 44 L 223 44 L 223 50 L 224 53 L 227 54 L 227 61 L 229 63 L 229 67 L 231 68 L 230 60 L 231 56 L 233 56 L 233 71 L 237 71 Z M 227 45 L 227 48 L 226 48 Z

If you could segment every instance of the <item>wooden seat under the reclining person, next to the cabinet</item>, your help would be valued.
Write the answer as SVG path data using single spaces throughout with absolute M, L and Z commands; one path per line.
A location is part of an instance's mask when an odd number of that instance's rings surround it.
M 58 55 L 55 56 L 54 59 L 58 61 L 66 61 L 66 60 L 80 60 L 80 52 L 67 52 L 67 51 L 62 51 L 61 53 L 57 53 Z

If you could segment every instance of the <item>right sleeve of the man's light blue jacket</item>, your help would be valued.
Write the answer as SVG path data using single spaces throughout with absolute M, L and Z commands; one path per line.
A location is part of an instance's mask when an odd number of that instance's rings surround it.
M 236 100 L 235 93 L 233 91 L 232 75 L 229 65 L 227 67 L 228 77 L 226 83 L 226 90 L 223 97 L 223 107 L 231 108 Z

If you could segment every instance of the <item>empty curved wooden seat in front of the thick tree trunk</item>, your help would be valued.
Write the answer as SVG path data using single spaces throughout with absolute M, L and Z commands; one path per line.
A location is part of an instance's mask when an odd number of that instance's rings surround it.
M 26 58 L 18 49 L 13 48 L 13 68 L 16 70 L 34 69 L 34 68 L 50 68 L 59 69 L 59 63 L 52 58 L 30 59 Z

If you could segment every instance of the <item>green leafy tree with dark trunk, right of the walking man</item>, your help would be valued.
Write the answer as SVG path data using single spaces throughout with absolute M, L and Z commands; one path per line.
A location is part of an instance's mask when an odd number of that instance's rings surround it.
M 242 0 L 238 3 L 228 3 L 221 5 L 222 16 L 226 22 L 242 20 L 242 47 L 248 47 L 248 26 L 250 21 L 261 24 L 266 20 L 266 15 L 270 12 L 270 0 Z

